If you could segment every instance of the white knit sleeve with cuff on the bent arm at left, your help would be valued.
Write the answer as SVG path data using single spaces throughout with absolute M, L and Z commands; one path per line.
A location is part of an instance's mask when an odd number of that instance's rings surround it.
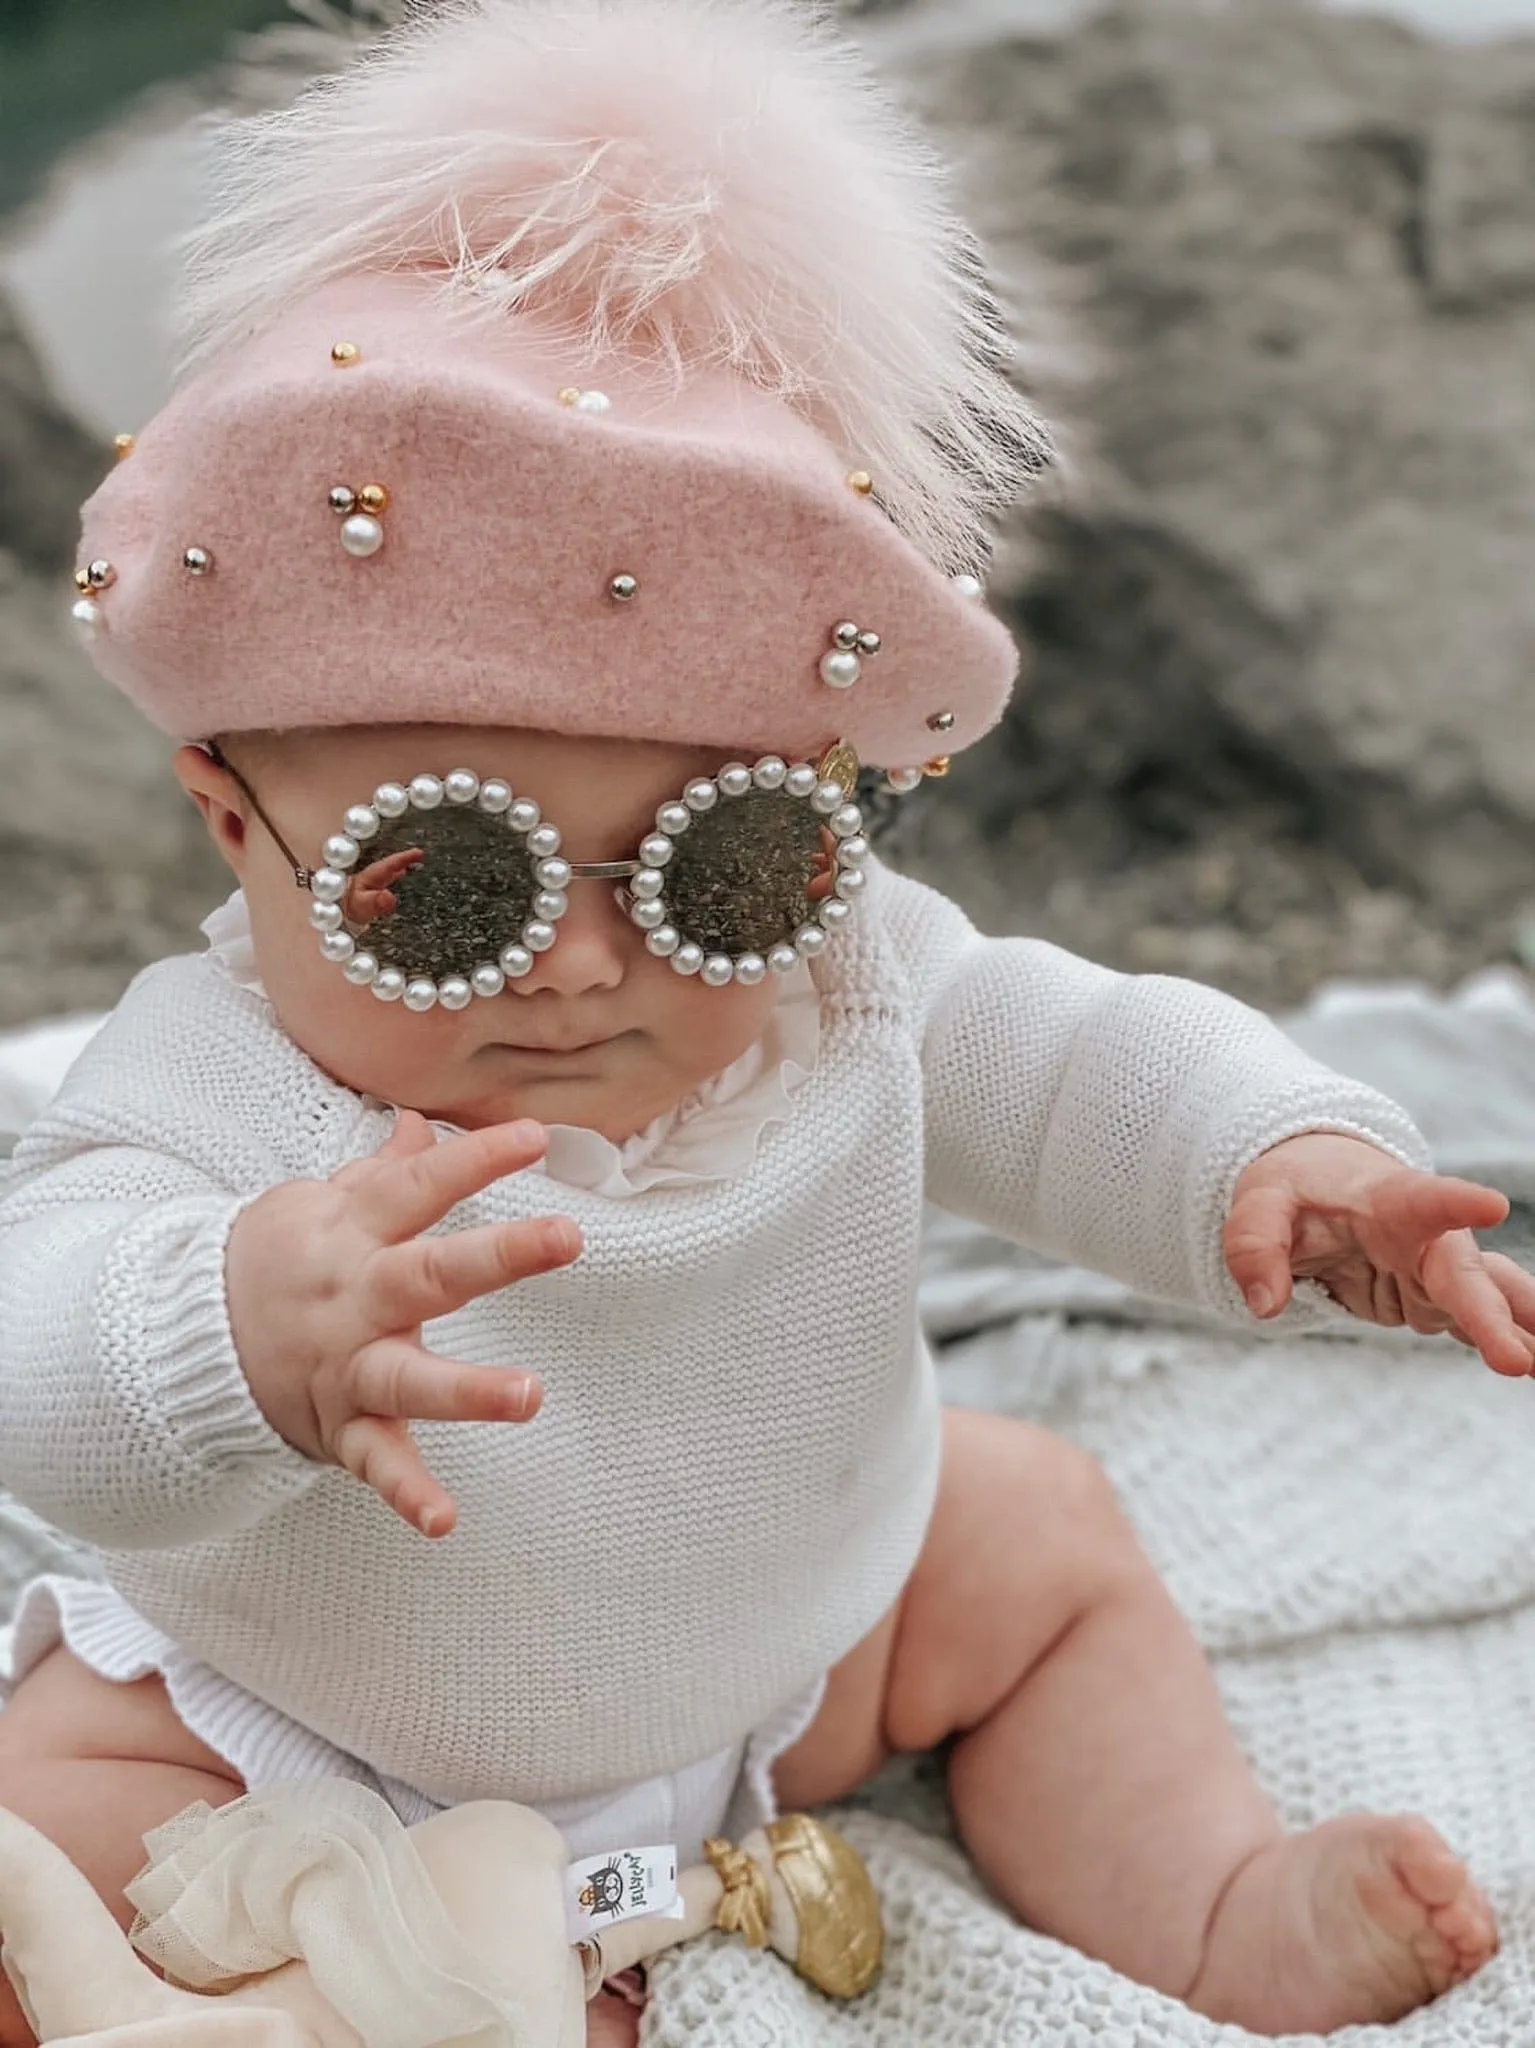
M 319 1473 L 239 1370 L 223 1253 L 242 1206 L 174 1157 L 47 1133 L 0 1184 L 0 1485 L 70 1536 L 223 1536 Z

